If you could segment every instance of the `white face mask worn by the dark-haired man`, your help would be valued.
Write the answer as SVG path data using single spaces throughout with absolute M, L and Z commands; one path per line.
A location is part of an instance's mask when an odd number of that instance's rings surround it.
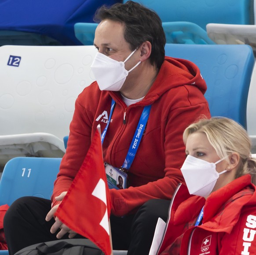
M 135 49 L 125 60 L 116 61 L 102 53 L 97 53 L 94 61 L 91 64 L 91 71 L 99 85 L 100 90 L 119 91 L 124 84 L 124 81 L 129 72 L 136 68 L 139 61 L 132 69 L 127 71 L 124 68 L 124 63 L 134 54 Z

